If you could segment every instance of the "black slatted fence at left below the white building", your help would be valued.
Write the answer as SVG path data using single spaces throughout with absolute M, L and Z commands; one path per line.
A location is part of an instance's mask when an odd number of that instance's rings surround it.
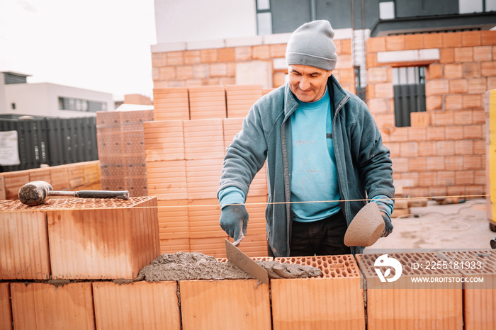
M 0 118 L 0 132 L 16 131 L 20 164 L 2 171 L 35 169 L 98 159 L 96 118 Z M 1 157 L 1 156 L 0 156 Z M 1 164 L 1 161 L 0 161 Z

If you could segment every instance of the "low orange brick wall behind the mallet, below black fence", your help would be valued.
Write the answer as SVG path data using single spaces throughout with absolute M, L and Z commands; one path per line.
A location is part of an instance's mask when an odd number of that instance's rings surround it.
M 98 161 L 0 173 L 0 200 L 17 200 L 19 189 L 31 181 L 46 181 L 53 190 L 101 190 Z

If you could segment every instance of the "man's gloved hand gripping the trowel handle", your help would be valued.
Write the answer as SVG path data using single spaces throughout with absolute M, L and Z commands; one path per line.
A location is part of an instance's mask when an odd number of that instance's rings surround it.
M 228 205 L 220 211 L 220 228 L 239 244 L 247 234 L 248 212 L 244 205 Z

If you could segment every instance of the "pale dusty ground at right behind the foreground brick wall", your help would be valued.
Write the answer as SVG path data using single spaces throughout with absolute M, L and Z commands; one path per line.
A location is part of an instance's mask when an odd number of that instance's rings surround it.
M 394 230 L 364 253 L 377 249 L 490 249 L 496 233 L 489 229 L 486 200 L 426 207 L 410 207 L 410 215 L 393 219 Z

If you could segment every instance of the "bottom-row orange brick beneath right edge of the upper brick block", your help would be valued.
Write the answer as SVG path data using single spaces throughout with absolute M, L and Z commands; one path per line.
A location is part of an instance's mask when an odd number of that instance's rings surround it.
M 175 281 L 93 283 L 96 329 L 181 329 Z

